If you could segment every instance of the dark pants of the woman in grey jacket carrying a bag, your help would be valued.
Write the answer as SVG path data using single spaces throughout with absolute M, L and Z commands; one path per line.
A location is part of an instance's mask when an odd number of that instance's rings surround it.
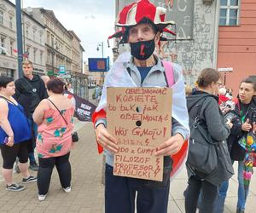
M 199 194 L 201 192 L 200 213 L 212 213 L 213 204 L 218 193 L 218 187 L 208 181 L 191 176 L 189 187 L 186 193 L 185 210 L 186 213 L 195 213 Z

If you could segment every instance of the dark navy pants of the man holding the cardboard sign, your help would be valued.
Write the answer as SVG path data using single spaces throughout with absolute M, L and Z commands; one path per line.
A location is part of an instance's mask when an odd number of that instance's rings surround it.
M 163 181 L 113 176 L 113 167 L 106 164 L 105 213 L 167 213 L 172 159 L 164 159 Z M 137 192 L 137 200 L 136 198 Z

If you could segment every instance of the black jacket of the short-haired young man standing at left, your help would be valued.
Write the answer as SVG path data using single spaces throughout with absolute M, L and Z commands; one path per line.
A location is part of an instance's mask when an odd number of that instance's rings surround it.
M 32 118 L 39 102 L 48 97 L 44 81 L 38 75 L 33 75 L 32 80 L 23 77 L 15 81 L 15 87 L 15 100 L 24 107 L 26 117 Z

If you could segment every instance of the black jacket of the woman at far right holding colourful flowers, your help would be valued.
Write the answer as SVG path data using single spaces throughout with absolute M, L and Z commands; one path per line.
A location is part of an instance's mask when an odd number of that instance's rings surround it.
M 241 161 L 245 158 L 245 150 L 238 144 L 238 141 L 242 136 L 247 135 L 246 131 L 241 130 L 241 101 L 238 99 L 235 110 L 231 113 L 234 114 L 235 118 L 232 119 L 233 127 L 230 132 L 230 136 L 228 138 L 228 146 L 230 149 L 230 158 L 232 160 Z M 247 118 L 250 120 L 250 124 L 256 122 L 256 96 L 253 96 L 252 101 L 247 108 L 247 112 L 245 112 L 245 120 Z

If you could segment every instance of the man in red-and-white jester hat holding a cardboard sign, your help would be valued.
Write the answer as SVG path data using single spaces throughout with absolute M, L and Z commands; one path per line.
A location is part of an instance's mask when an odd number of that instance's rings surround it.
M 134 212 L 136 193 L 138 213 L 166 213 L 170 175 L 175 175 L 186 159 L 189 117 L 181 67 L 153 54 L 161 32 L 171 32 L 166 26 L 174 24 L 165 21 L 165 15 L 166 9 L 155 7 L 148 0 L 132 3 L 119 13 L 116 25 L 122 31 L 113 37 L 130 43 L 131 55 L 119 55 L 113 64 L 93 115 L 99 153 L 103 148 L 106 153 L 106 213 Z M 169 87 L 172 90 L 166 89 Z M 106 112 L 111 118 L 108 130 Z M 115 112 L 117 121 L 112 123 Z M 132 138 L 119 137 L 126 134 Z M 157 142 L 152 145 L 154 140 Z M 130 151 L 128 155 L 120 154 Z M 163 158 L 161 174 L 154 164 L 148 163 L 151 157 Z M 160 161 L 154 163 L 160 165 Z M 160 177 L 152 178 L 152 170 Z

